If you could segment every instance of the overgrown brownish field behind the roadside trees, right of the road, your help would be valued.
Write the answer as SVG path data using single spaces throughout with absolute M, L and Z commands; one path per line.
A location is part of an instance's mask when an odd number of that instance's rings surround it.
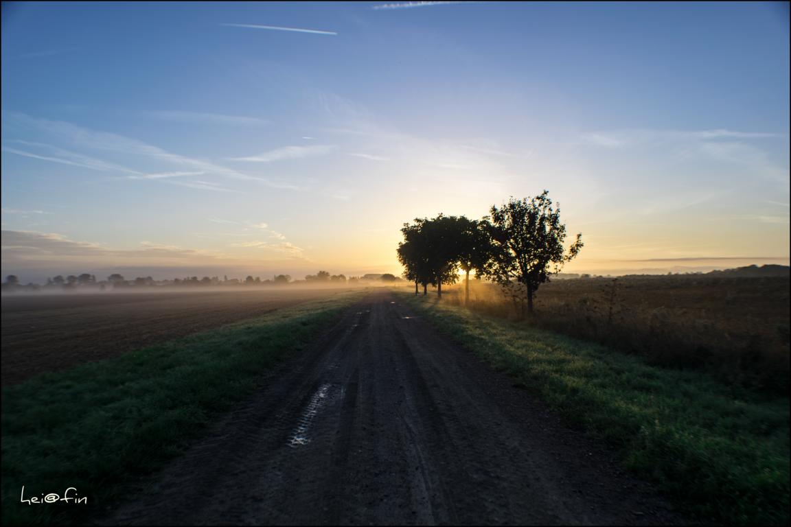
M 471 280 L 474 311 L 513 318 L 494 284 Z M 464 282 L 443 288 L 464 303 Z M 709 371 L 723 382 L 789 390 L 789 278 L 620 277 L 553 280 L 526 323 L 607 344 L 665 367 Z

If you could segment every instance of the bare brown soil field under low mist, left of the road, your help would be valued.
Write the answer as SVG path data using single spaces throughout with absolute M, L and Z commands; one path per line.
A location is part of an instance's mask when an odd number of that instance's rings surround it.
M 2 297 L 2 386 L 224 326 L 340 289 L 108 292 Z

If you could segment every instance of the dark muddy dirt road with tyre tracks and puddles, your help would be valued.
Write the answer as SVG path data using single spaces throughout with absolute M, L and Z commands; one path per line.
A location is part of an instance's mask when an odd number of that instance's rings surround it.
M 101 522 L 687 523 L 388 292 L 356 304 Z

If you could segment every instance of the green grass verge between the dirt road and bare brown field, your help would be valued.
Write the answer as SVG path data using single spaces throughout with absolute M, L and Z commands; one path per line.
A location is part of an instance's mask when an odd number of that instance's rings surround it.
M 2 523 L 79 523 L 180 454 L 361 297 L 335 295 L 2 389 Z M 88 504 L 21 503 L 67 487 Z M 71 495 L 74 496 L 74 491 Z

